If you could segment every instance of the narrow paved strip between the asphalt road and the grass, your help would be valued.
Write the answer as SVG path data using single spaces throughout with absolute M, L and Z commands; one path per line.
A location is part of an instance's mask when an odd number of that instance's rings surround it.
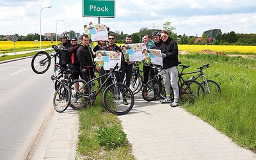
M 78 126 L 76 110 L 70 107 L 63 113 L 54 110 L 32 159 L 75 159 Z

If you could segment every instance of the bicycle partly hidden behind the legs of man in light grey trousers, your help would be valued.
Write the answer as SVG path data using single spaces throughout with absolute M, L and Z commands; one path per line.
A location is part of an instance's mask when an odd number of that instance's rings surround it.
M 181 63 L 181 62 L 180 62 Z M 178 79 L 178 85 L 179 85 L 179 97 L 182 100 L 182 102 L 195 102 L 196 99 L 200 99 L 204 97 L 204 87 L 194 80 L 188 80 L 186 81 L 182 77 L 183 70 L 188 68 L 188 65 L 179 65 L 182 67 L 182 71 L 179 72 L 179 79 Z M 143 99 L 147 101 L 155 100 L 156 97 L 158 97 L 161 93 L 163 95 L 163 73 L 164 70 L 161 68 L 157 68 L 159 71 L 156 78 L 151 79 L 148 81 L 147 84 L 145 84 L 145 87 L 142 91 L 142 97 Z M 173 99 L 173 88 L 171 86 L 171 99 Z

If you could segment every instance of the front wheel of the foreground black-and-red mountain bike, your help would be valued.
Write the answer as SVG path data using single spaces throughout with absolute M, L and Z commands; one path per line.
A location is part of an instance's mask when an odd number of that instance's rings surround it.
M 125 115 L 134 105 L 134 95 L 125 84 L 111 84 L 103 93 L 104 107 L 115 115 Z

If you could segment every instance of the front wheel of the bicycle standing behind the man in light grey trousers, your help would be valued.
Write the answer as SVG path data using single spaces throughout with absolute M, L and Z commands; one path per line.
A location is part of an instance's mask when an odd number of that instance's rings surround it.
M 147 84 L 143 87 L 142 97 L 144 100 L 152 101 L 155 100 L 156 97 L 162 92 L 162 83 L 157 79 L 151 79 Z

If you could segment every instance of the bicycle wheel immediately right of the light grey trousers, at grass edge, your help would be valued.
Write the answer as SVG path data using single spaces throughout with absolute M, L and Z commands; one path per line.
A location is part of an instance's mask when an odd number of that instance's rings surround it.
M 193 104 L 196 100 L 204 97 L 204 88 L 197 81 L 186 81 L 180 86 L 180 99 L 183 102 Z

